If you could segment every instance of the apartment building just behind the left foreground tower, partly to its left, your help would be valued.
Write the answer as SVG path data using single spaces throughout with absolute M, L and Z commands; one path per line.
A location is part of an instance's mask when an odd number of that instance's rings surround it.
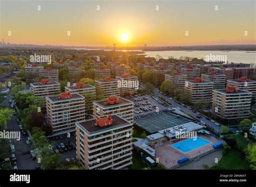
M 41 80 L 39 83 L 30 83 L 30 90 L 34 96 L 53 96 L 60 92 L 60 84 L 56 81 Z

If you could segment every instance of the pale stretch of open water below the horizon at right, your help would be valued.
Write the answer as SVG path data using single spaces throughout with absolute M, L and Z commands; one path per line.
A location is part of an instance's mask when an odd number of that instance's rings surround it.
M 164 59 L 168 59 L 169 56 L 173 56 L 175 59 L 179 59 L 180 56 L 197 57 L 198 59 L 205 59 L 206 55 L 227 55 L 228 62 L 235 63 L 256 63 L 256 52 L 246 53 L 246 51 L 147 51 L 146 57 L 156 57 L 156 55 L 162 56 Z

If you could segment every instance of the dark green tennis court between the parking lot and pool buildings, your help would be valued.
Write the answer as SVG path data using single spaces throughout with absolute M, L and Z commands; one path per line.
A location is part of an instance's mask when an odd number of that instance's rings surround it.
M 188 123 L 190 120 L 183 117 L 178 118 L 176 115 L 169 112 L 163 112 L 154 114 L 153 116 L 136 119 L 135 122 L 147 132 L 155 133 L 166 128 Z

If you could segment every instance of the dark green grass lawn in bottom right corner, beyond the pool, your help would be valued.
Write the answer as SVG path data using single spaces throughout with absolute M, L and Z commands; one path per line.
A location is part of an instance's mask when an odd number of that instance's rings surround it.
M 241 152 L 233 149 L 228 150 L 217 166 L 213 166 L 211 169 L 250 169 L 250 165 L 245 161 Z

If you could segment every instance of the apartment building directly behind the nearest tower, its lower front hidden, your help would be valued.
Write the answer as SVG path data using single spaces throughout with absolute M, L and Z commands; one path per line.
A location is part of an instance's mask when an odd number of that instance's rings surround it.
M 93 117 L 102 117 L 109 114 L 117 114 L 132 123 L 133 102 L 117 96 L 107 96 L 106 99 L 93 102 Z

